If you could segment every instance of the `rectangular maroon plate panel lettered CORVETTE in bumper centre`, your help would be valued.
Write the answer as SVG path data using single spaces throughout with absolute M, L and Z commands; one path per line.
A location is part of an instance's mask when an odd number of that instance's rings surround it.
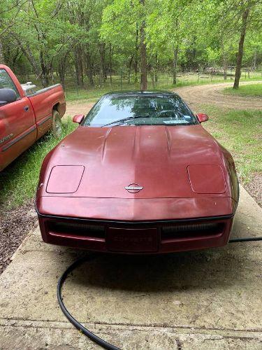
M 158 250 L 159 235 L 157 228 L 108 228 L 105 241 L 109 251 L 148 253 Z

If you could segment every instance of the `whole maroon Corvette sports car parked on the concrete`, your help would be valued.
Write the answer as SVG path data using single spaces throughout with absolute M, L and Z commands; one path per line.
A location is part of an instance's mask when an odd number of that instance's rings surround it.
M 227 244 L 238 205 L 231 154 L 173 92 L 105 94 L 45 158 L 43 240 L 117 253 Z

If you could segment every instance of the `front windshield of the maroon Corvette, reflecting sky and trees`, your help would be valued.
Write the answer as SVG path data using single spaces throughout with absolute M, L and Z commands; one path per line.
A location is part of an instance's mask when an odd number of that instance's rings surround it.
M 105 95 L 87 114 L 82 125 L 192 125 L 194 114 L 177 95 Z

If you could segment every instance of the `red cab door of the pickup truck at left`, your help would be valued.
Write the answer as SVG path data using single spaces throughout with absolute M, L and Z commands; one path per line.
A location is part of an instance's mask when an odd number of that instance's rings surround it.
M 0 105 L 0 171 L 36 141 L 34 111 L 6 69 L 0 69 L 0 89 L 13 89 L 17 100 Z

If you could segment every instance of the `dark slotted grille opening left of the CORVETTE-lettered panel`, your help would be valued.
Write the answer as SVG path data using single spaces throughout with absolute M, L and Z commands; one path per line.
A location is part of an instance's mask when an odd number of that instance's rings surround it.
M 67 223 L 67 222 L 51 222 L 48 223 L 50 231 L 55 233 L 63 233 L 67 235 L 77 235 L 86 237 L 105 237 L 105 227 L 103 225 L 92 225 L 87 223 Z

